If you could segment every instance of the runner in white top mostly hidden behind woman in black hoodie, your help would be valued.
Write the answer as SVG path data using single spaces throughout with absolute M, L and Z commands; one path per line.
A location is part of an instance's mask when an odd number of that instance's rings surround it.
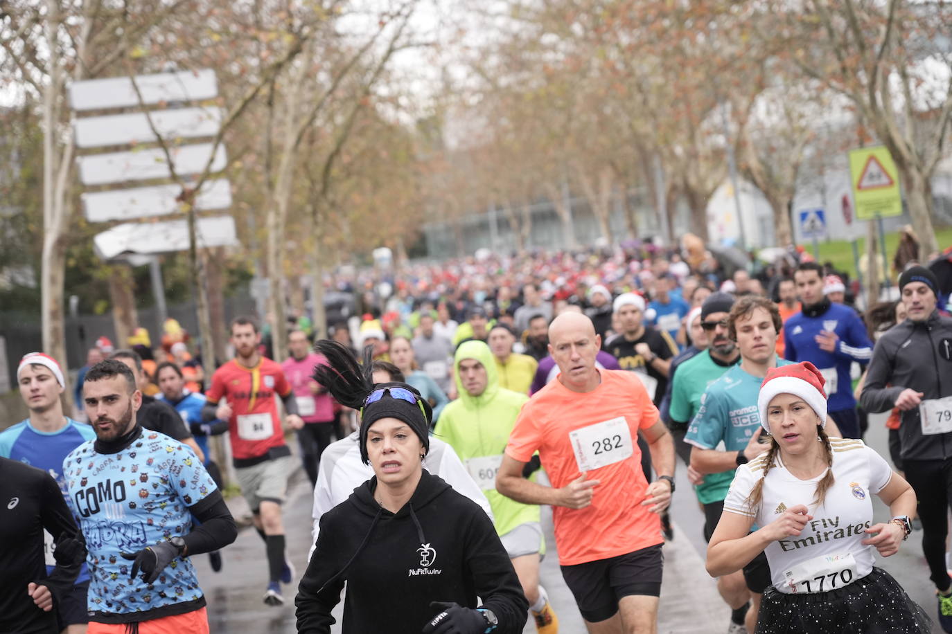
M 326 341 L 318 341 L 315 344 L 316 350 L 321 351 L 322 355 L 331 355 L 333 350 L 327 350 Z M 352 353 L 350 353 L 352 355 Z M 335 365 L 340 365 L 335 363 Z M 391 366 L 387 368 L 386 366 Z M 374 384 L 392 383 L 394 381 L 403 383 L 404 375 L 391 363 L 386 361 L 374 361 L 372 364 Z M 423 460 L 423 466 L 426 471 L 433 475 L 439 475 L 446 481 L 453 490 L 463 493 L 470 500 L 478 504 L 486 511 L 489 519 L 492 517 L 492 509 L 489 507 L 489 501 L 483 491 L 476 486 L 466 467 L 460 461 L 456 451 L 436 436 L 429 437 L 429 451 L 426 451 L 426 457 Z M 317 535 L 321 531 L 321 517 L 342 502 L 347 501 L 350 493 L 360 487 L 373 477 L 373 468 L 361 460 L 360 454 L 360 433 L 352 432 L 347 438 L 342 438 L 337 442 L 330 443 L 330 446 L 321 455 L 321 466 L 317 473 L 317 485 L 314 487 L 314 506 L 311 516 L 314 519 L 314 527 L 311 529 L 313 537 L 310 551 L 307 553 L 307 560 L 310 561 L 311 555 L 317 544 Z

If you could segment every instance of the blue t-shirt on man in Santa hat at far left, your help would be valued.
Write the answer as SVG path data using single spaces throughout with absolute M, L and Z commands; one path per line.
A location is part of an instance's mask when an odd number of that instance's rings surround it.
M 63 477 L 63 460 L 69 451 L 72 451 L 87 440 L 95 440 L 96 432 L 89 425 L 77 422 L 72 418 L 66 419 L 66 425 L 55 432 L 41 432 L 26 419 L 0 432 L 0 456 L 19 460 L 20 462 L 42 469 L 49 473 L 59 485 L 63 496 L 67 496 L 66 478 Z M 44 553 L 47 562 L 47 574 L 52 574 L 55 567 L 52 558 L 52 538 L 45 535 Z M 87 567 L 80 568 L 76 583 L 89 579 Z

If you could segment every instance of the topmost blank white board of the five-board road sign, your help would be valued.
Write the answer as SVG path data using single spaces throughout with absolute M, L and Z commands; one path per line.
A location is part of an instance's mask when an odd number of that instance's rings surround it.
M 202 101 L 218 95 L 215 71 L 210 68 L 138 75 L 135 83 L 146 106 Z M 132 107 L 139 106 L 139 98 L 129 77 L 90 79 L 69 85 L 69 106 L 77 111 Z

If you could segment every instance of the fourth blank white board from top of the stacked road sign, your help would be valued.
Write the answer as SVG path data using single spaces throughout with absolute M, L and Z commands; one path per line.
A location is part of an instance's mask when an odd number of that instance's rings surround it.
M 80 196 L 83 214 L 90 222 L 129 221 L 166 216 L 178 211 L 175 199 L 182 188 L 175 184 L 132 187 L 92 192 Z M 231 206 L 231 185 L 225 179 L 206 181 L 195 197 L 197 211 L 227 209 Z

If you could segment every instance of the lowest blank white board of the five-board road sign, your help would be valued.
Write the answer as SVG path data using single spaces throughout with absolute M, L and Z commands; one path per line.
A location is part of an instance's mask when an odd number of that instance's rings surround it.
M 200 218 L 196 223 L 196 246 L 231 246 L 238 243 L 235 221 L 230 216 Z M 126 222 L 93 238 L 102 259 L 136 254 L 171 253 L 188 249 L 188 222 Z

